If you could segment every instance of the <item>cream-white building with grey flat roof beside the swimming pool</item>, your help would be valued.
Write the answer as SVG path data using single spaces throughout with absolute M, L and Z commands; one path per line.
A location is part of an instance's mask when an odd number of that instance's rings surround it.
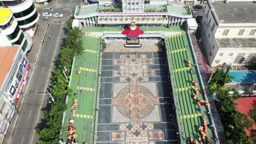
M 251 65 L 256 61 L 256 3 L 208 1 L 202 42 L 211 66 Z

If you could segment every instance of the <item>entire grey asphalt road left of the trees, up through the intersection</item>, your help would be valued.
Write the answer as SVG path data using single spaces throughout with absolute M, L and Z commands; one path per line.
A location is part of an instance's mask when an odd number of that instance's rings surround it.
M 43 120 L 44 117 L 41 109 L 44 108 L 49 101 L 47 96 L 39 95 L 38 93 L 49 92 L 48 88 L 52 76 L 51 71 L 55 68 L 53 61 L 60 52 L 60 45 L 65 39 L 64 30 L 67 28 L 65 21 L 68 16 L 70 16 L 71 12 L 74 14 L 74 4 L 70 3 L 80 5 L 82 2 L 82 0 L 58 0 L 57 5 L 52 6 L 54 13 L 63 13 L 63 18 L 49 18 L 46 21 L 49 24 L 45 37 L 47 42 L 43 43 L 36 64 L 31 65 L 31 67 L 34 68 L 34 75 L 30 78 L 31 82 L 28 87 L 28 92 L 22 103 L 23 106 L 20 111 L 21 116 L 14 130 L 12 144 L 36 144 L 38 141 L 35 127 Z M 66 8 L 67 6 L 70 7 Z M 44 7 L 37 8 L 37 12 L 42 14 L 43 9 Z M 59 20 L 61 22 L 55 22 Z M 52 27 L 52 30 L 49 30 L 50 27 Z M 40 35 L 42 34 L 40 33 Z M 52 39 L 48 39 L 48 36 L 51 36 Z M 33 45 L 39 46 L 37 43 Z M 33 62 L 35 61 L 35 58 L 30 58 L 29 54 L 28 58 Z

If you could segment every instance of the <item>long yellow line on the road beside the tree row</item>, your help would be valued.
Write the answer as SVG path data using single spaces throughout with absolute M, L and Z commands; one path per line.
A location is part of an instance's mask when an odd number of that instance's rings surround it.
M 60 42 L 60 36 L 61 36 L 61 28 L 62 28 L 62 24 L 61 24 L 61 27 L 60 27 L 60 31 L 59 31 L 59 34 L 58 34 L 58 40 L 57 40 L 57 43 L 55 44 L 55 50 L 54 50 L 54 53 L 53 53 L 53 56 L 52 56 L 52 63 L 51 63 L 51 68 L 52 68 L 52 65 L 54 64 L 54 58 L 55 58 L 55 55 L 56 55 L 56 51 L 57 51 L 57 46 L 59 45 L 59 42 Z M 46 89 L 47 89 L 47 86 L 48 86 L 48 82 L 49 82 L 49 77 L 51 75 L 51 68 L 49 70 L 49 73 L 48 73 L 48 77 L 47 77 L 47 80 L 46 80 L 46 85 L 45 85 L 45 90 L 44 92 L 46 92 Z M 41 103 L 40 103 L 40 107 L 39 107 L 39 112 L 37 114 L 37 118 L 36 118 L 36 123 L 35 123 L 35 127 L 37 125 L 37 122 L 39 120 L 39 117 L 40 117 L 40 113 L 41 113 L 41 108 L 42 108 L 42 105 L 43 105 L 43 100 L 45 99 L 45 95 L 42 96 L 42 100 L 41 100 Z M 34 129 L 33 131 L 33 134 L 32 134 L 32 137 L 31 137 L 31 141 L 30 141 L 30 144 L 33 143 L 34 141 L 34 135 L 36 133 L 36 129 Z

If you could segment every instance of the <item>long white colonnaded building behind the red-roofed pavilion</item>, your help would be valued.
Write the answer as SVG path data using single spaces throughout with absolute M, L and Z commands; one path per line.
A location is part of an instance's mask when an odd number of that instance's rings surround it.
M 153 4 L 149 4 L 149 3 Z M 157 3 L 158 2 L 158 3 Z M 189 6 L 167 0 L 100 0 L 99 4 L 77 6 L 74 12 L 73 27 L 126 25 L 182 25 L 186 19 L 192 18 Z M 157 3 L 157 4 L 156 4 Z

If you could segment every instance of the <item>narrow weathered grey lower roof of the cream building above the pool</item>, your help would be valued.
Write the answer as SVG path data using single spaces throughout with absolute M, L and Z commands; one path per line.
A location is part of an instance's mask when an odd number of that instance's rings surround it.
M 216 39 L 220 48 L 255 48 L 255 38 Z

